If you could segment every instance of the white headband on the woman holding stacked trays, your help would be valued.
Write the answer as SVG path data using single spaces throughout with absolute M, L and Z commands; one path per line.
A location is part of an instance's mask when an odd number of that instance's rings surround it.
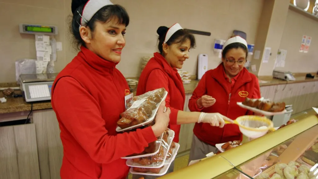
M 109 0 L 89 0 L 83 7 L 83 12 L 81 15 L 81 25 L 85 26 L 89 20 L 94 16 L 94 14 L 100 10 L 102 7 L 107 5 L 113 5 Z M 80 15 L 80 14 L 79 14 Z

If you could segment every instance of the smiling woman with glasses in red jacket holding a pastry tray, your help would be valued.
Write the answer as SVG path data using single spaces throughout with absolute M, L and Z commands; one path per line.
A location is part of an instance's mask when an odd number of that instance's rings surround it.
M 190 111 L 218 112 L 231 119 L 252 115 L 251 111 L 236 104 L 245 97 L 260 98 L 257 77 L 244 68 L 246 58 L 245 39 L 239 36 L 228 39 L 223 46 L 222 63 L 207 71 L 194 90 L 189 100 Z M 218 128 L 196 123 L 193 133 L 189 161 L 204 158 L 210 152 L 216 153 L 215 144 L 242 140 L 242 133 L 235 124 Z

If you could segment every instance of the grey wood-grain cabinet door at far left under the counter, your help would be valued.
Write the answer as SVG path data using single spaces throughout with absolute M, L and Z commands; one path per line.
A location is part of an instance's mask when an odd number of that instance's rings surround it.
M 40 179 L 34 124 L 0 127 L 0 178 Z

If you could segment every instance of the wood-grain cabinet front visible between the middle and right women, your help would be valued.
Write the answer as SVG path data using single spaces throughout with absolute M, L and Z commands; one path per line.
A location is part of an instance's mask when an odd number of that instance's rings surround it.
M 184 103 L 183 111 L 190 111 L 188 108 L 188 102 L 191 96 L 192 94 L 185 95 L 185 103 Z M 194 124 L 195 123 L 181 125 L 180 134 L 179 134 L 180 148 L 178 153 L 187 151 L 191 148 Z

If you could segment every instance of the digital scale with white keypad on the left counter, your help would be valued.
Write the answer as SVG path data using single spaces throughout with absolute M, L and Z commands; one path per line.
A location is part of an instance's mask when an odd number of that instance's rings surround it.
M 49 101 L 58 73 L 20 75 L 20 89 L 26 102 Z

